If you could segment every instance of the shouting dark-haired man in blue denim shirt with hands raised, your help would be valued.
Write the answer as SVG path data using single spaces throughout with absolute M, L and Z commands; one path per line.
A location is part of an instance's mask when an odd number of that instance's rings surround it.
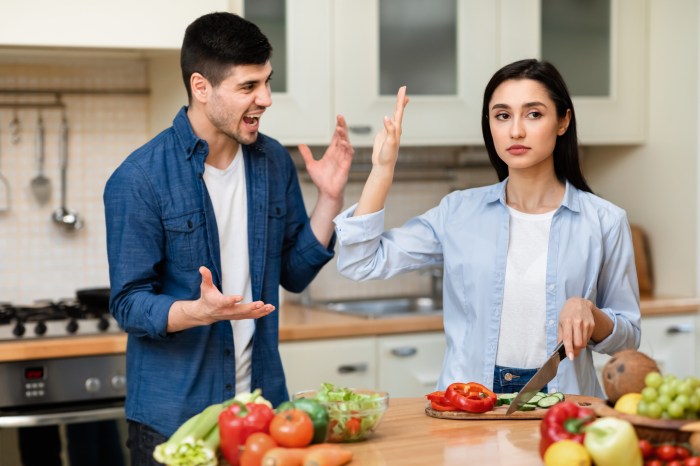
M 300 146 L 318 201 L 306 213 L 289 153 L 258 132 L 271 46 L 230 13 L 188 26 L 189 105 L 107 182 L 110 309 L 128 333 L 132 464 L 188 417 L 236 393 L 288 399 L 279 286 L 300 292 L 333 256 L 353 149 L 338 116 L 320 160 Z

